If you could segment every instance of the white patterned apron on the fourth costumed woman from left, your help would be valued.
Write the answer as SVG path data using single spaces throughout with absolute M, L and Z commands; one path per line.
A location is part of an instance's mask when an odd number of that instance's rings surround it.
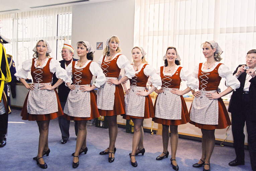
M 129 94 L 125 95 L 125 115 L 144 117 L 145 111 L 145 96 L 138 96 L 137 91 L 144 91 L 145 87 L 131 85 Z

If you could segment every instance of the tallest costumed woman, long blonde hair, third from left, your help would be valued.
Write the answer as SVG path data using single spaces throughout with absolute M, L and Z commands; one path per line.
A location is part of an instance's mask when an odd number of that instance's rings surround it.
M 120 54 L 120 41 L 117 36 L 110 36 L 106 41 L 106 48 L 98 60 L 103 73 L 106 76 L 106 83 L 97 91 L 97 107 L 99 114 L 104 116 L 108 122 L 109 146 L 100 155 L 108 154 L 108 162 L 114 161 L 115 140 L 117 136 L 117 115 L 125 114 L 124 93 L 121 83 L 134 77 L 135 71 L 126 56 Z M 126 73 L 118 79 L 121 69 Z

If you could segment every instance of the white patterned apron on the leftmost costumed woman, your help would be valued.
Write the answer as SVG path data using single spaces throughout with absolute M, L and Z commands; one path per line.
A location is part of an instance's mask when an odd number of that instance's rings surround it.
M 44 83 L 51 85 L 51 82 Z M 58 112 L 57 96 L 54 90 L 40 90 L 41 83 L 34 83 L 27 98 L 27 112 L 35 115 L 45 115 Z

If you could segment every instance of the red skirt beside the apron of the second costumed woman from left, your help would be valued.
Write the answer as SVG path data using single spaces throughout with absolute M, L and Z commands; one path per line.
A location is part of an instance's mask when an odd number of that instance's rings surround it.
M 99 115 L 99 111 L 98 111 L 98 108 L 97 108 L 97 95 L 94 92 L 94 90 L 90 91 L 90 97 L 91 97 L 91 99 L 90 99 L 91 100 L 91 117 L 82 118 L 82 117 L 73 117 L 73 116 L 69 116 L 67 114 L 64 114 L 63 118 L 66 118 L 68 121 L 70 121 L 70 120 L 89 121 L 89 120 L 98 118 L 100 115 Z

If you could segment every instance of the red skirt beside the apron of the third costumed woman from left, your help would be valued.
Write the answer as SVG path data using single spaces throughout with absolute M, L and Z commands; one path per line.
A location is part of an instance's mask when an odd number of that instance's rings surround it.
M 98 110 L 101 116 L 117 116 L 125 114 L 124 93 L 121 84 L 115 85 L 115 99 L 113 110 Z

